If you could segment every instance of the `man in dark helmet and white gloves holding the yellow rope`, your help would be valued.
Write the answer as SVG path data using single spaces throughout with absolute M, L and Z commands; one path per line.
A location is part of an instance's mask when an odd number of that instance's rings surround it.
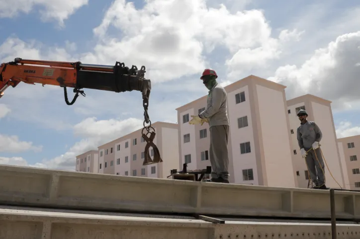
M 324 160 L 319 148 L 319 142 L 323 135 L 319 126 L 314 121 L 308 121 L 307 116 L 305 110 L 299 110 L 297 113 L 297 117 L 301 122 L 297 128 L 300 153 L 305 158 L 310 179 L 315 183 L 314 188 L 328 189 L 325 185 Z

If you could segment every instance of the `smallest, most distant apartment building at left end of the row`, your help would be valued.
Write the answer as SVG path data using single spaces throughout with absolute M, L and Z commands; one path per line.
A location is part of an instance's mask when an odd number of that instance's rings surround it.
M 76 171 L 98 173 L 98 151 L 90 150 L 76 156 Z

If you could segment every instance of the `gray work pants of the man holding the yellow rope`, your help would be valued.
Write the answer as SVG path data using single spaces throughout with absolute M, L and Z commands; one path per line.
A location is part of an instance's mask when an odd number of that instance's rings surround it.
M 305 148 L 306 151 L 309 150 L 309 148 Z M 316 156 L 317 159 L 316 159 Z M 318 161 L 319 160 L 319 161 Z M 325 175 L 323 172 L 325 172 L 325 166 L 324 166 L 324 160 L 321 155 L 320 148 L 317 148 L 315 151 L 311 149 L 305 158 L 307 167 L 309 169 L 310 179 L 315 183 L 316 186 L 321 186 L 325 184 Z M 320 164 L 319 164 L 320 162 Z

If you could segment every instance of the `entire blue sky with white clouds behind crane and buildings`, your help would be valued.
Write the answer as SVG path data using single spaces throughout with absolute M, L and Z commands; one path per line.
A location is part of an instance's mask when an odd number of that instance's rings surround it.
M 199 75 L 249 74 L 333 101 L 338 137 L 360 134 L 357 0 L 0 0 L 0 62 L 116 61 L 147 67 L 153 122 L 206 94 Z M 69 90 L 70 94 L 72 90 Z M 0 100 L 0 164 L 75 170 L 75 156 L 142 126 L 140 92 L 8 88 Z M 274 119 L 276 120 L 276 119 Z

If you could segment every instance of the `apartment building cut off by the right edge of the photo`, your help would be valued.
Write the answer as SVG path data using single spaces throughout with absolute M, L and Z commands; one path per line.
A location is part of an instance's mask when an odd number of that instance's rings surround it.
M 347 188 L 360 190 L 360 135 L 338 138 L 338 147 Z

